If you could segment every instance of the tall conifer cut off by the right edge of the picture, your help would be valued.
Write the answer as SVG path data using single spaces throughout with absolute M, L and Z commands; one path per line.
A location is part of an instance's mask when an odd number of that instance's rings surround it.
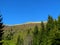
M 56 30 L 56 33 L 55 33 L 55 38 L 52 45 L 60 45 L 60 16 L 58 16 L 58 20 L 55 20 L 54 30 Z

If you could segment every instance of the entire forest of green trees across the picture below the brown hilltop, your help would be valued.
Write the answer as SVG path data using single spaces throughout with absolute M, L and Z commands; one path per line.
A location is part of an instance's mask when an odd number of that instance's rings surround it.
M 60 45 L 60 16 L 53 19 L 49 15 L 47 22 L 41 21 L 39 26 L 25 30 L 14 30 L 13 26 L 5 30 L 4 27 L 7 26 L 3 26 L 0 16 L 0 45 Z

